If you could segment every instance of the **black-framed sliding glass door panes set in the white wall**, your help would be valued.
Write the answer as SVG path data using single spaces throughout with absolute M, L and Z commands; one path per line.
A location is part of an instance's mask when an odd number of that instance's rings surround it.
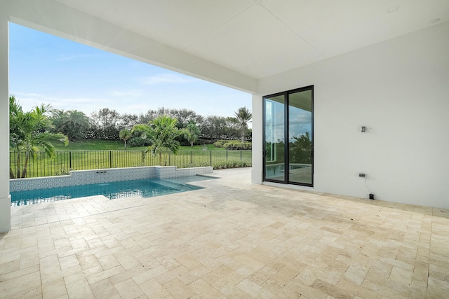
M 264 181 L 313 186 L 313 86 L 264 97 Z

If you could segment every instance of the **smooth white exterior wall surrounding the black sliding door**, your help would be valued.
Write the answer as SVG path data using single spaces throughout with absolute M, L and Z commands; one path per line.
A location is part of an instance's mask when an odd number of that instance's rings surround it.
M 446 22 L 260 80 L 253 183 L 262 96 L 314 85 L 313 190 L 366 198 L 369 188 L 377 200 L 449 208 L 448 36 Z

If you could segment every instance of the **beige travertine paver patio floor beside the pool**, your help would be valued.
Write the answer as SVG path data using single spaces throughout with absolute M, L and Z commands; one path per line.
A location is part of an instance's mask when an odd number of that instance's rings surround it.
M 449 298 L 447 209 L 214 175 L 189 193 L 13 207 L 0 297 Z

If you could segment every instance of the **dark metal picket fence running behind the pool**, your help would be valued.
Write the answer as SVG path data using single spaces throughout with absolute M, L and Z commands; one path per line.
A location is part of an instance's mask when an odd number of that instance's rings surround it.
M 239 167 L 251 165 L 251 151 L 179 151 L 174 155 L 170 151 L 162 152 L 164 166 L 201 167 L 213 166 Z M 19 163 L 17 161 L 19 160 Z M 22 175 L 25 153 L 9 153 L 11 173 L 15 177 Z M 35 158 L 27 162 L 27 178 L 69 174 L 69 170 L 87 170 L 103 168 L 155 166 L 159 164 L 159 155 L 153 156 L 145 151 L 56 151 L 55 158 L 46 157 L 39 151 Z M 20 173 L 17 176 L 18 172 Z

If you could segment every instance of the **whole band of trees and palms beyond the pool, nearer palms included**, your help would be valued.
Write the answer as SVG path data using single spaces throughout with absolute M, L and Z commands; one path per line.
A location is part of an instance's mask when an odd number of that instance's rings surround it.
M 77 110 L 51 109 L 50 105 L 36 106 L 32 111 L 23 111 L 13 95 L 9 97 L 10 148 L 18 154 L 17 169 L 11 179 L 25 177 L 29 158 L 43 149 L 48 157 L 55 155 L 53 142 L 67 145 L 79 139 L 106 139 L 127 141 L 130 146 L 149 146 L 162 165 L 161 149 L 177 153 L 182 142 L 191 146 L 203 140 L 239 139 L 247 140 L 248 122 L 252 115 L 246 107 L 239 108 L 234 117 L 199 116 L 187 109 L 149 110 L 147 113 L 120 114 L 108 108 L 91 113 L 91 117 Z M 249 138 L 250 139 L 250 138 Z M 25 161 L 19 153 L 25 152 Z

